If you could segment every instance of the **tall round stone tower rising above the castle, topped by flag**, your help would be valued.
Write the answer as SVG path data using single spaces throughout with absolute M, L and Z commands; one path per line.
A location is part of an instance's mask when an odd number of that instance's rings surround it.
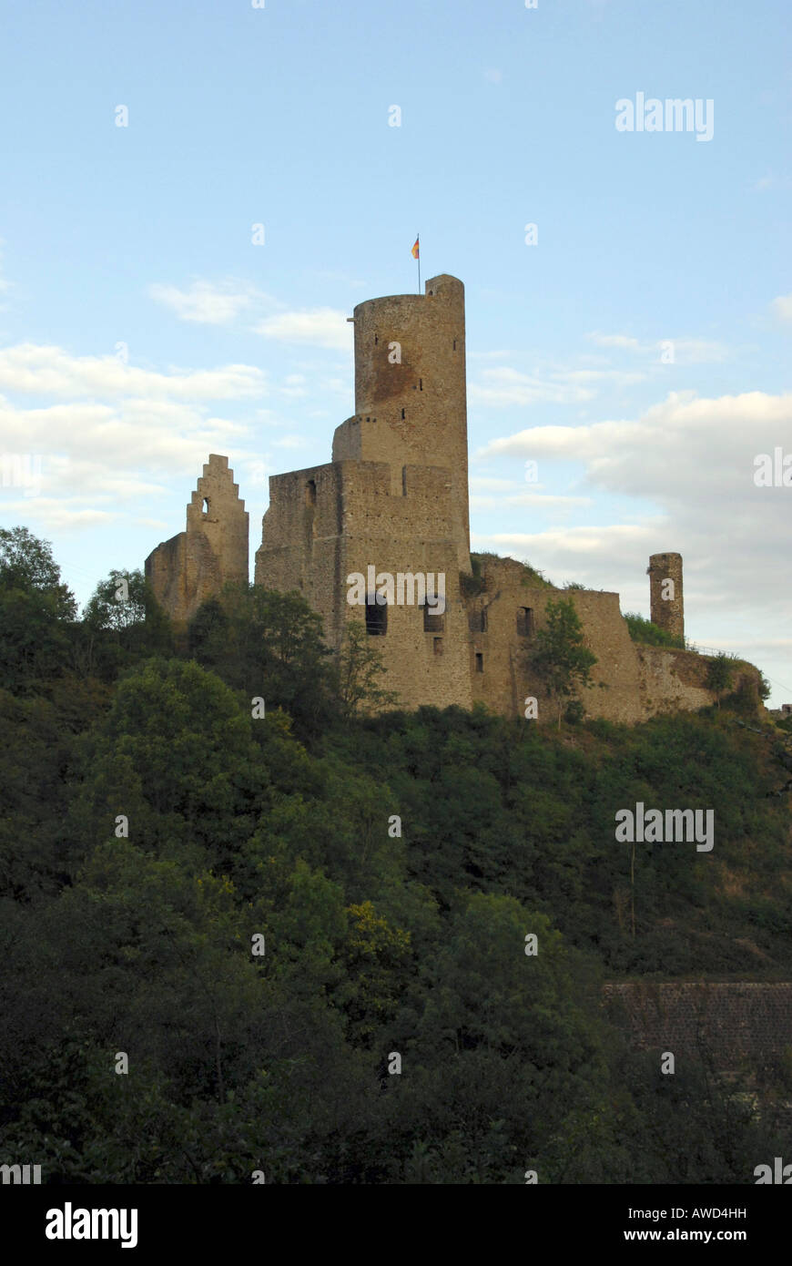
M 445 273 L 423 295 L 368 299 L 354 309 L 354 408 L 335 432 L 333 460 L 450 471 L 458 538 L 469 553 L 464 286 Z

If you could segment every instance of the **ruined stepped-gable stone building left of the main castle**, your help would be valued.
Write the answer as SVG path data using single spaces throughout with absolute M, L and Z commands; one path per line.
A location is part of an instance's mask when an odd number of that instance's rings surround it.
M 248 513 L 228 457 L 210 453 L 187 506 L 187 528 L 157 546 L 145 579 L 177 627 L 229 581 L 248 581 Z

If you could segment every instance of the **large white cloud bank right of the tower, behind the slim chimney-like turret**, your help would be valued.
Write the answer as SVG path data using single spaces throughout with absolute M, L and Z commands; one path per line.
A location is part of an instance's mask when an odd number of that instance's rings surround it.
M 638 419 L 505 436 L 482 456 L 582 462 L 585 479 L 577 486 L 617 499 L 597 499 L 597 518 L 605 513 L 626 522 L 541 530 L 536 503 L 533 534 L 502 532 L 477 541 L 528 557 L 554 580 L 615 590 L 622 610 L 644 613 L 648 555 L 678 551 L 687 577 L 688 632 L 703 644 L 740 651 L 758 630 L 772 638 L 792 625 L 792 492 L 753 481 L 757 454 L 778 446 L 789 451 L 789 436 L 792 394 L 762 391 L 717 399 L 672 392 Z M 548 467 L 540 468 L 552 492 Z M 564 491 L 563 476 L 558 490 Z M 629 498 L 635 499 L 633 511 Z M 782 648 L 768 648 L 759 667 L 779 681 L 791 680 Z

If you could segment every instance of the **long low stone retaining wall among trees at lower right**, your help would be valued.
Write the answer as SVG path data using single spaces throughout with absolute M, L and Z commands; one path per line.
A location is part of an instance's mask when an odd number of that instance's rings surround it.
M 792 1048 L 792 982 L 629 981 L 603 986 L 605 1006 L 639 1050 L 695 1055 L 754 1070 Z M 658 1061 L 659 1062 L 659 1061 Z

